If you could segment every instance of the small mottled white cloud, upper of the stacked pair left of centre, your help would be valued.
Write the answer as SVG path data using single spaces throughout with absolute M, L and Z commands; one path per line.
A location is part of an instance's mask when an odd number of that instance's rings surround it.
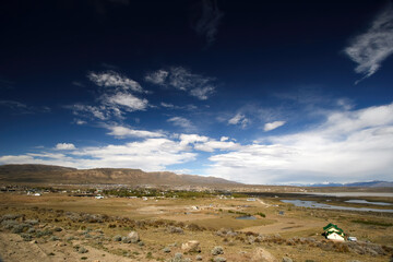
M 98 86 L 120 87 L 122 90 L 131 90 L 139 93 L 144 92 L 136 81 L 128 79 L 115 71 L 107 71 L 104 73 L 90 72 L 87 78 Z

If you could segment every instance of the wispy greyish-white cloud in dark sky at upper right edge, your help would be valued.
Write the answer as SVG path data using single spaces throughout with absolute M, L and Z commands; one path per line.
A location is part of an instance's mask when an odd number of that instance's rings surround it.
M 383 60 L 393 53 L 392 4 L 376 17 L 366 33 L 356 36 L 344 51 L 358 64 L 355 72 L 365 75 L 361 80 L 374 74 Z

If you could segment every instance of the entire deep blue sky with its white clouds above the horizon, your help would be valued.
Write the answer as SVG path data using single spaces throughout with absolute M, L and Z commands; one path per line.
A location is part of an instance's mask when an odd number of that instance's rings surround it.
M 0 7 L 0 164 L 392 180 L 391 1 Z

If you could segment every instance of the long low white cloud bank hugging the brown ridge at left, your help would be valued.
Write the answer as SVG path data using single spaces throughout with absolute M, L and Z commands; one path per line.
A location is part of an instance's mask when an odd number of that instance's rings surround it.
M 193 160 L 196 154 L 184 151 L 176 141 L 164 138 L 146 139 L 122 145 L 83 147 L 63 154 L 24 154 L 0 157 L 1 164 L 46 164 L 76 168 L 141 168 L 165 170 L 166 166 Z

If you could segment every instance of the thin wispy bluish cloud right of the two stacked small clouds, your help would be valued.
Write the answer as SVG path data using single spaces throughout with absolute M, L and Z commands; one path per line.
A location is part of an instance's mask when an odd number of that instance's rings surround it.
M 171 67 L 168 70 L 160 69 L 150 72 L 145 75 L 145 81 L 184 91 L 201 100 L 206 100 L 215 93 L 214 78 L 192 73 L 183 67 Z

